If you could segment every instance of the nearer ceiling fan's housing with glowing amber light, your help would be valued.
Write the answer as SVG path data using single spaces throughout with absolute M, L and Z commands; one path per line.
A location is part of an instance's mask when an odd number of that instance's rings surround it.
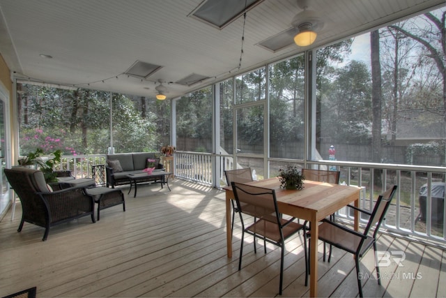
M 318 33 L 316 31 L 323 28 L 323 21 L 314 10 L 308 10 L 309 0 L 298 0 L 298 6 L 303 9 L 293 17 L 293 27 L 298 30 L 294 36 L 294 42 L 300 47 L 312 45 Z

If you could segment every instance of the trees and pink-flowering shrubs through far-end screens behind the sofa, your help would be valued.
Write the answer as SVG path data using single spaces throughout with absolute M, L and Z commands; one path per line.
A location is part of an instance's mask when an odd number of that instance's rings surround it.
M 31 84 L 20 89 L 24 91 L 19 97 L 20 154 L 35 148 L 45 153 L 60 149 L 64 155 L 107 153 L 109 92 Z M 148 104 L 146 98 L 123 94 L 112 98 L 116 152 L 157 151 L 160 139 L 169 142 L 169 103 Z M 155 108 L 142 114 L 141 105 Z

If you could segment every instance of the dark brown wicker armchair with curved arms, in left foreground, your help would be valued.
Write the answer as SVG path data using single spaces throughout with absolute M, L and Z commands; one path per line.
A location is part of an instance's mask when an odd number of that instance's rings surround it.
M 43 172 L 27 167 L 5 169 L 6 178 L 22 203 L 23 224 L 33 223 L 45 228 L 42 241 L 48 237 L 49 227 L 82 216 L 91 216 L 95 223 L 94 200 L 86 195 L 84 188 L 67 188 L 52 191 L 45 183 Z

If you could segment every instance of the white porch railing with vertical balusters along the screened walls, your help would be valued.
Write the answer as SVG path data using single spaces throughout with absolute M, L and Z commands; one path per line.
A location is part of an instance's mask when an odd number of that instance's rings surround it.
M 218 163 L 217 163 L 218 162 Z M 304 167 L 303 161 L 270 160 L 270 173 L 277 172 L 277 163 L 294 164 Z M 220 168 L 219 174 L 214 171 L 215 164 Z M 61 170 L 71 170 L 77 178 L 92 177 L 91 165 L 105 165 L 105 155 L 63 156 Z M 277 167 L 277 169 L 275 168 Z M 393 165 L 382 163 L 349 163 L 339 161 L 311 161 L 307 167 L 333 168 L 341 171 L 340 183 L 362 186 L 360 205 L 371 210 L 379 193 L 388 186 L 399 186 L 394 204 L 387 214 L 383 228 L 390 232 L 422 238 L 446 244 L 446 198 L 433 198 L 428 191 L 423 204 L 425 214 L 420 211 L 420 188 L 426 184 L 428 190 L 433 182 L 445 182 L 444 167 L 422 167 L 416 165 Z M 206 153 L 177 151 L 174 158 L 175 177 L 187 179 L 208 186 L 223 186 L 224 170 L 233 169 L 233 158 Z M 215 172 L 215 174 L 213 174 Z M 215 184 L 213 179 L 219 178 Z M 378 179 L 378 181 L 376 181 Z M 445 195 L 446 197 L 446 192 Z M 434 201 L 434 205 L 431 203 Z M 433 207 L 432 207 L 433 206 Z M 352 214 L 346 209 L 338 211 L 339 218 L 352 221 Z M 433 216 L 434 215 L 434 216 Z M 362 221 L 366 221 L 363 218 Z

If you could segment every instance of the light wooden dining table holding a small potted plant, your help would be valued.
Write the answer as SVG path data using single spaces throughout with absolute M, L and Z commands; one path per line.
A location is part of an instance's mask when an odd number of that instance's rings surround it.
M 310 238 L 310 279 L 309 295 L 318 296 L 318 222 L 330 216 L 347 204 L 354 202 L 359 207 L 360 187 L 340 184 L 329 184 L 318 181 L 304 181 L 302 190 L 288 190 L 280 187 L 277 177 L 259 181 L 251 181 L 246 184 L 275 189 L 277 207 L 281 214 L 309 221 L 312 227 Z M 228 258 L 232 258 L 232 234 L 231 234 L 231 200 L 234 200 L 231 186 L 224 186 L 226 191 L 226 246 Z M 359 228 L 359 214 L 355 211 L 354 228 Z

